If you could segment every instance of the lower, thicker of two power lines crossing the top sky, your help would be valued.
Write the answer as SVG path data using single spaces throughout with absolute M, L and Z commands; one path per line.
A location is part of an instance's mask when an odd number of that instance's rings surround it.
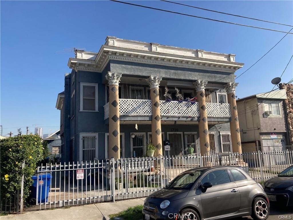
M 245 27 L 250 27 L 250 28 L 258 28 L 258 29 L 263 29 L 263 30 L 267 30 L 267 31 L 276 31 L 276 32 L 293 34 L 292 32 L 279 31 L 279 30 L 274 30 L 274 29 L 270 29 L 270 28 L 261 28 L 261 27 L 257 27 L 257 26 L 251 26 L 251 25 L 246 25 L 246 24 L 233 23 L 233 22 L 229 22 L 229 21 L 221 21 L 221 20 L 217 20 L 217 19 L 205 18 L 205 17 L 195 16 L 195 15 L 180 13 L 180 12 L 176 12 L 176 11 L 169 11 L 169 10 L 165 10 L 165 9 L 158 9 L 158 8 L 154 8 L 154 7 L 149 7 L 149 6 L 139 5 L 139 4 L 133 4 L 133 3 L 124 2 L 124 1 L 117 1 L 117 0 L 110 0 L 110 1 L 119 2 L 119 3 L 127 4 L 127 5 L 138 6 L 138 7 L 147 8 L 147 9 L 154 9 L 154 10 L 157 10 L 157 11 L 165 11 L 165 12 L 169 12 L 169 13 L 190 16 L 190 17 L 194 17 L 194 18 L 202 18 L 202 19 L 206 19 L 206 20 L 210 20 L 210 21 L 218 21 L 218 22 L 222 22 L 222 23 L 234 24 L 234 25 L 245 26 Z

